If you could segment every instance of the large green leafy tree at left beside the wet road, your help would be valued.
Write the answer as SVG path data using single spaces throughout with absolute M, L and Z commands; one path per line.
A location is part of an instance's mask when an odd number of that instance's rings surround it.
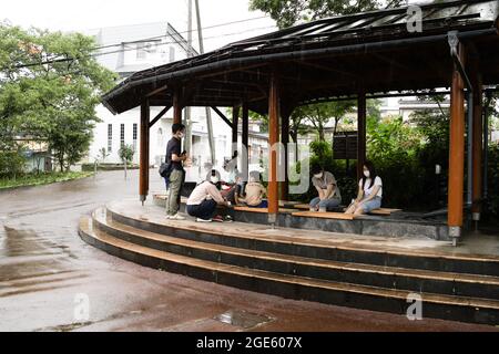
M 0 23 L 2 140 L 47 139 L 61 171 L 86 154 L 95 106 L 116 79 L 91 55 L 95 45 L 79 33 Z

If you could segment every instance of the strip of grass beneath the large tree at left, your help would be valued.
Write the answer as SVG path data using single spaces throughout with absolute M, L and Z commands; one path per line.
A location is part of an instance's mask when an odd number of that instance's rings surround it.
M 40 174 L 29 174 L 13 178 L 0 178 L 0 190 L 17 188 L 17 187 L 29 187 L 29 186 L 42 186 L 50 185 L 58 181 L 67 181 L 81 179 L 93 176 L 91 171 L 82 173 L 40 173 Z

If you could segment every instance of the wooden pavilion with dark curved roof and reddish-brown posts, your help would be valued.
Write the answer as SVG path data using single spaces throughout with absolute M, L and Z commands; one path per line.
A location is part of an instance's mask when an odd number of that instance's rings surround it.
M 421 31 L 409 25 L 418 19 L 408 8 L 327 18 L 138 72 L 120 83 L 103 96 L 103 103 L 115 114 L 141 106 L 141 200 L 149 194 L 149 129 L 172 107 L 175 123 L 182 122 L 184 107 L 212 107 L 232 126 L 234 143 L 241 113 L 245 147 L 248 111 L 268 114 L 269 145 L 281 142 L 286 146 L 289 115 L 297 106 L 357 100 L 360 175 L 366 156 L 367 98 L 450 88 L 447 222 L 449 233 L 458 238 L 465 199 L 476 219 L 481 208 L 487 146 L 482 96 L 486 87 L 499 84 L 499 1 L 446 1 L 420 9 Z M 164 106 L 152 121 L 151 106 Z M 217 107 L 232 107 L 232 121 Z M 470 137 L 471 158 L 465 195 L 466 136 Z M 269 220 L 278 212 L 279 198 L 287 199 L 287 183 L 281 184 L 279 195 L 277 156 L 271 153 Z

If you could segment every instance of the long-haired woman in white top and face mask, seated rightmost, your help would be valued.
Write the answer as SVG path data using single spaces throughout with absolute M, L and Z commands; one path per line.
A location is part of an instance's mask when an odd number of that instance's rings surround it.
M 383 181 L 371 162 L 364 164 L 364 176 L 358 183 L 357 199 L 353 200 L 345 214 L 363 215 L 381 207 Z

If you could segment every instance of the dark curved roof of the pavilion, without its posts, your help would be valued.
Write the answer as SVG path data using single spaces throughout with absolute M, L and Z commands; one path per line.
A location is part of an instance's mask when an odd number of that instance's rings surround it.
M 483 84 L 499 84 L 499 1 L 447 1 L 421 6 L 422 31 L 409 32 L 408 8 L 308 22 L 183 61 L 141 71 L 103 96 L 113 113 L 139 106 L 268 107 L 271 72 L 292 106 L 366 93 L 448 87 L 452 59 L 448 32 L 458 31 L 478 59 Z M 469 70 L 469 69 L 468 69 Z

